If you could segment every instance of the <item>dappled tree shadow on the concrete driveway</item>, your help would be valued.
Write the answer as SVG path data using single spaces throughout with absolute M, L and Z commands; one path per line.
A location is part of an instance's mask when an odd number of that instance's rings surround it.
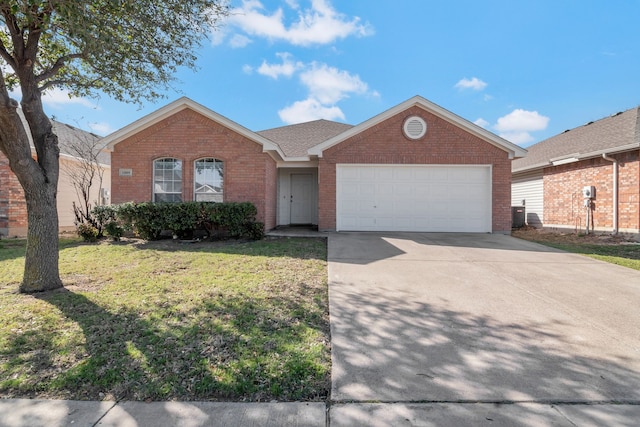
M 582 326 L 561 316 L 505 321 L 392 289 L 330 285 L 335 403 L 640 403 L 637 340 L 583 341 Z M 505 425 L 540 417 L 535 408 L 505 412 L 515 417 Z

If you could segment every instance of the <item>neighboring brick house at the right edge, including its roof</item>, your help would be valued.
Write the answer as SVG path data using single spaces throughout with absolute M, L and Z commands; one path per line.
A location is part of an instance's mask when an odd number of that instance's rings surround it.
M 513 162 L 512 204 L 536 227 L 640 233 L 640 108 L 527 148 Z M 595 197 L 585 206 L 584 187 Z

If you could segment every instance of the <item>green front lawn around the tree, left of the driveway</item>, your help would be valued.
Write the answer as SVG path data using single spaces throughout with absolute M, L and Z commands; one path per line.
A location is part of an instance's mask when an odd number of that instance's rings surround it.
M 326 243 L 63 241 L 65 288 L 17 292 L 24 241 L 0 242 L 0 394 L 323 400 Z

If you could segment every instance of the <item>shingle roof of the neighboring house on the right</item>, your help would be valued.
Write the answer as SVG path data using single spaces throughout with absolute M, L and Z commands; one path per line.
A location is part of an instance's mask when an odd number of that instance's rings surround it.
M 566 130 L 532 145 L 527 148 L 527 157 L 512 163 L 512 171 L 524 172 L 638 148 L 640 107 Z

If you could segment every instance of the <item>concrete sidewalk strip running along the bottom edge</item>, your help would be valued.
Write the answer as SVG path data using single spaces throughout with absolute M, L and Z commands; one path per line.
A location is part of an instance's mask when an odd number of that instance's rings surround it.
M 637 426 L 640 405 L 0 400 L 0 427 Z

